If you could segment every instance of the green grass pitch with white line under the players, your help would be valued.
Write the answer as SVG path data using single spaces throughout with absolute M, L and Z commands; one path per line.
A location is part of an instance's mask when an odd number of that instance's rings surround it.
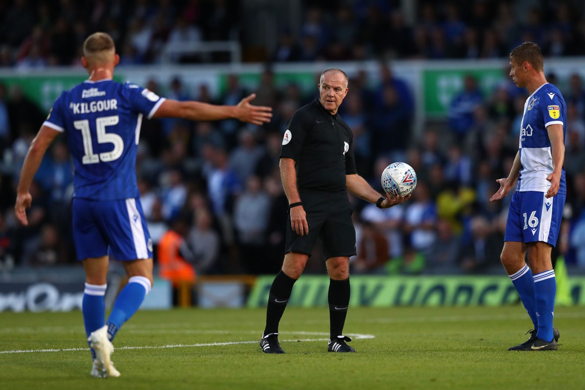
M 80 312 L 1 313 L 0 388 L 585 388 L 584 308 L 555 310 L 559 350 L 535 353 L 507 351 L 528 338 L 521 306 L 350 308 L 355 354 L 327 352 L 328 315 L 288 308 L 287 354 L 267 355 L 258 345 L 264 310 L 141 311 L 115 340 L 122 377 L 95 379 Z

